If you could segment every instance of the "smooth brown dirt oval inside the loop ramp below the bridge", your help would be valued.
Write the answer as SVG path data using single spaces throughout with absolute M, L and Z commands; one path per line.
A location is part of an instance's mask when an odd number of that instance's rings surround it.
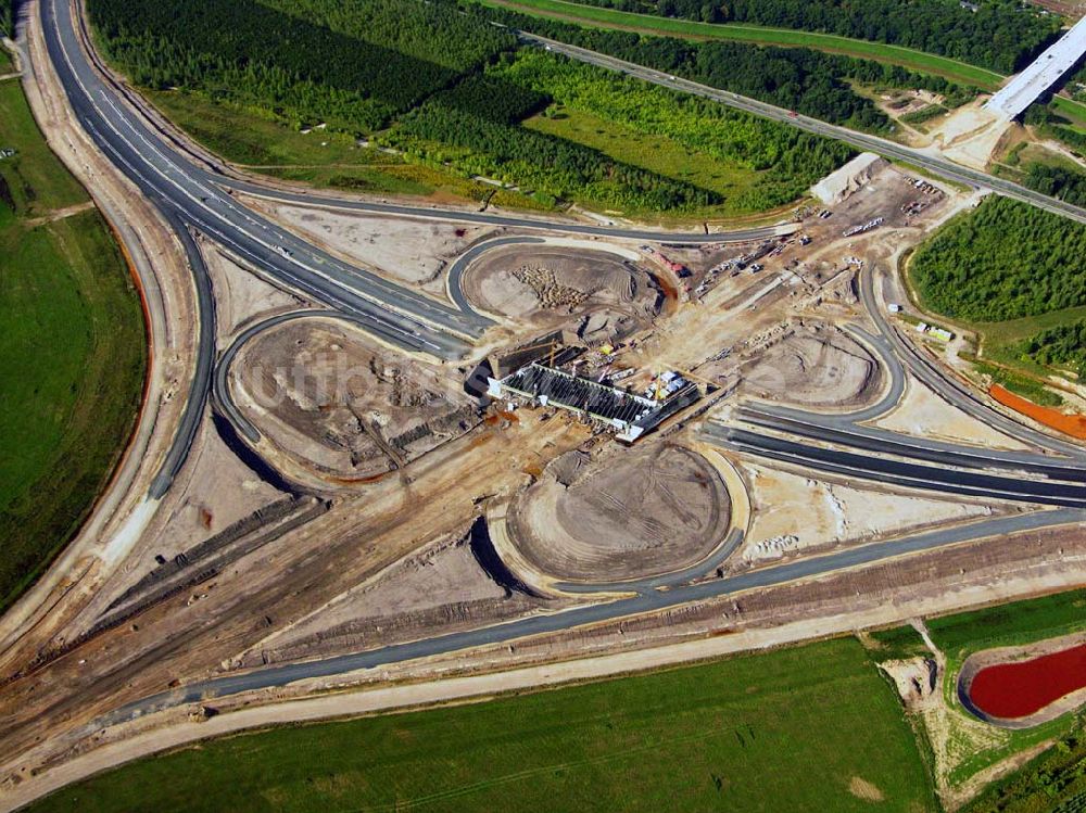
M 728 530 L 728 490 L 700 455 L 665 443 L 552 462 L 509 512 L 520 552 L 571 581 L 637 579 L 693 564 Z

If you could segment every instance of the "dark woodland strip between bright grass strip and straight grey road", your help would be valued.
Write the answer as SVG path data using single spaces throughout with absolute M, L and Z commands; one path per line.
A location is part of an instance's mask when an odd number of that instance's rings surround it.
M 806 48 L 692 42 L 674 37 L 582 28 L 475 3 L 465 7 L 465 10 L 514 28 L 871 132 L 885 131 L 892 123 L 874 102 L 856 93 L 849 87 L 849 80 L 896 88 L 922 88 L 959 100 L 972 96 L 972 90 L 940 77 Z

